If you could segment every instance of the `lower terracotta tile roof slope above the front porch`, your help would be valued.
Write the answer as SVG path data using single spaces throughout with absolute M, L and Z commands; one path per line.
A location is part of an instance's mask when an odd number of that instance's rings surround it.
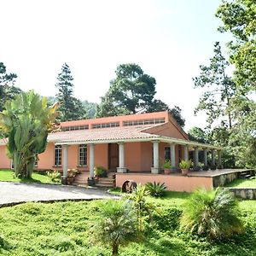
M 158 138 L 159 135 L 143 132 L 150 126 L 129 126 L 113 127 L 105 129 L 79 130 L 79 131 L 60 131 L 50 133 L 49 142 L 55 143 L 79 143 L 79 142 L 100 142 L 100 141 L 122 141 L 129 139 Z

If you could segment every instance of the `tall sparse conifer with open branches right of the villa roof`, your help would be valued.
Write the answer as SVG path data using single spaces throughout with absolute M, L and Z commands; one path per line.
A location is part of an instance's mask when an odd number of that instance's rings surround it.
M 215 55 L 210 59 L 210 65 L 201 65 L 201 74 L 193 79 L 195 88 L 207 88 L 202 94 L 195 113 L 207 112 L 207 123 L 211 127 L 216 119 L 228 116 L 229 127 L 232 127 L 230 99 L 236 92 L 236 84 L 227 75 L 229 62 L 225 60 L 218 42 L 214 44 Z

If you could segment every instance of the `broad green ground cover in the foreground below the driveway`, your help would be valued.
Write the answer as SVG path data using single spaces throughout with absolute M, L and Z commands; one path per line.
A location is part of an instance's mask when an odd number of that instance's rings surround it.
M 241 201 L 247 233 L 229 241 L 208 241 L 179 230 L 178 218 L 189 194 L 168 193 L 154 199 L 161 217 L 154 216 L 146 239 L 120 250 L 122 256 L 256 255 L 256 201 Z M 107 256 L 92 237 L 91 227 L 101 201 L 26 203 L 0 209 L 0 255 Z

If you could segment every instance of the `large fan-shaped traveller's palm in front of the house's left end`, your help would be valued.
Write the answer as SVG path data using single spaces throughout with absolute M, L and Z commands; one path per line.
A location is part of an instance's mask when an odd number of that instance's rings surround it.
M 7 150 L 14 160 L 15 175 L 31 177 L 38 154 L 46 148 L 48 132 L 53 128 L 57 104 L 47 107 L 47 99 L 33 91 L 6 102 L 0 113 L 0 128 L 8 134 Z

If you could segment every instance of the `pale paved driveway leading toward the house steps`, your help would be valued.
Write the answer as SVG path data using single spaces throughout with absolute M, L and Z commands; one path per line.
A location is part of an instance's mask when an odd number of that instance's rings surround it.
M 74 186 L 0 182 L 0 207 L 25 201 L 65 201 L 116 198 L 99 189 Z

